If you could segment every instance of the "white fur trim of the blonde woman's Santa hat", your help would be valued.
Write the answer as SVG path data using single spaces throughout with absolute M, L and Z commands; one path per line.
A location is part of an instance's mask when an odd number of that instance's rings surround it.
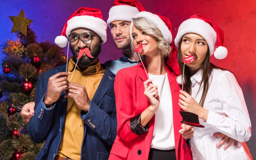
M 154 23 L 156 25 L 156 27 L 161 31 L 163 38 L 166 39 L 168 44 L 172 43 L 171 31 L 168 29 L 165 22 L 163 22 L 162 19 L 158 15 L 143 11 L 143 12 L 138 13 L 136 16 L 134 16 L 134 18 L 138 18 L 138 17 L 147 18 L 152 23 Z M 132 33 L 132 26 L 133 26 L 133 21 L 131 22 L 131 26 L 130 26 L 130 34 Z M 132 38 L 132 36 L 131 36 L 131 38 Z

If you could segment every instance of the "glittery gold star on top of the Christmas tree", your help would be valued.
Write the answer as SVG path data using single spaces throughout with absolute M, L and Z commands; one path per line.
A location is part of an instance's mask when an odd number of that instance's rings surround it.
M 30 23 L 33 22 L 33 20 L 25 18 L 23 9 L 19 12 L 18 16 L 9 16 L 9 17 L 13 22 L 11 33 L 20 31 L 22 34 L 27 36 L 27 27 L 30 25 Z

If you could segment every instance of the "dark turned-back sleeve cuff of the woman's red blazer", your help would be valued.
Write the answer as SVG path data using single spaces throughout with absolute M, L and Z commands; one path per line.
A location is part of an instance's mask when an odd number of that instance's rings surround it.
M 135 117 L 132 117 L 130 119 L 131 131 L 136 133 L 137 135 L 141 135 L 148 131 L 148 124 L 145 127 L 143 127 L 142 125 L 140 125 L 140 121 L 141 121 L 141 114 Z

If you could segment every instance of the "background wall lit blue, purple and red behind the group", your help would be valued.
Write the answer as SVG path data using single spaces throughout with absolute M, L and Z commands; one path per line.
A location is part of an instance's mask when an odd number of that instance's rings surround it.
M 203 14 L 214 20 L 224 30 L 228 57 L 224 60 L 211 61 L 219 67 L 231 70 L 239 79 L 244 93 L 247 108 L 252 121 L 252 138 L 247 142 L 253 157 L 256 157 L 256 1 L 253 0 L 140 0 L 149 12 L 167 16 L 172 21 L 173 34 L 176 35 L 180 23 L 193 14 Z M 0 44 L 7 39 L 17 40 L 11 33 L 13 23 L 8 16 L 17 16 L 24 9 L 26 18 L 34 20 L 30 27 L 38 36 L 38 42 L 50 41 L 61 33 L 66 19 L 79 7 L 95 7 L 102 11 L 106 21 L 113 0 L 52 0 L 52 1 L 18 1 L 0 0 Z M 164 6 L 164 7 L 163 7 Z M 122 52 L 116 49 L 110 30 L 107 29 L 108 41 L 102 45 L 101 63 L 110 59 L 117 59 Z M 66 49 L 67 50 L 67 49 Z M 0 55 L 2 58 L 2 55 Z M 2 70 L 0 70 L 2 74 Z

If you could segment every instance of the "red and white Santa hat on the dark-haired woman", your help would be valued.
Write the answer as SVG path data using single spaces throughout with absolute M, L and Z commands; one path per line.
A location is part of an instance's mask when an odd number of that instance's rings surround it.
M 214 54 L 216 59 L 224 59 L 228 55 L 227 48 L 223 47 L 224 32 L 210 19 L 196 14 L 181 23 L 175 45 L 178 47 L 179 42 L 186 33 L 197 33 L 207 42 L 210 55 Z

